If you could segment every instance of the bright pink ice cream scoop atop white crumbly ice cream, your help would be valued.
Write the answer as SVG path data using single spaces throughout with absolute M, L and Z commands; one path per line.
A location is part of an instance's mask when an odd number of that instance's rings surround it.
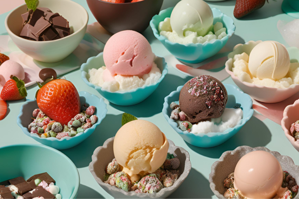
M 147 39 L 133 30 L 113 35 L 106 43 L 103 58 L 111 75 L 144 75 L 152 69 L 154 53 Z

